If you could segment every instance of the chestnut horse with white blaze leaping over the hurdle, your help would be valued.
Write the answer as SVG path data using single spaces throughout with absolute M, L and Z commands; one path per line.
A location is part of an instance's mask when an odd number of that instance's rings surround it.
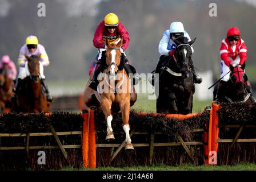
M 102 109 L 107 121 L 107 140 L 114 139 L 113 129 L 111 127 L 113 113 L 121 111 L 122 126 L 126 134 L 125 149 L 133 149 L 129 134 L 129 114 L 130 106 L 137 100 L 137 93 L 135 93 L 135 89 L 131 85 L 131 80 L 125 69 L 123 69 L 123 64 L 125 63 L 121 61 L 120 51 L 122 39 L 119 39 L 116 43 L 110 44 L 109 40 L 106 38 L 106 46 L 106 60 L 102 60 L 105 69 L 100 75 L 98 85 L 100 95 L 95 92 L 95 90 L 89 88 L 89 83 L 87 83 L 83 100 L 85 101 L 87 109 L 91 107 Z M 93 75 L 93 73 L 91 75 Z M 133 92 L 131 92 L 131 90 L 133 90 Z

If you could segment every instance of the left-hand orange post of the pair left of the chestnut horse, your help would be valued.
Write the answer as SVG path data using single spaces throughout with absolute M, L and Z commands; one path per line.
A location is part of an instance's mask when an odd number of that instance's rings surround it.
M 83 167 L 88 168 L 89 163 L 89 111 L 87 109 L 82 110 L 83 118 L 83 134 L 82 134 L 82 156 Z

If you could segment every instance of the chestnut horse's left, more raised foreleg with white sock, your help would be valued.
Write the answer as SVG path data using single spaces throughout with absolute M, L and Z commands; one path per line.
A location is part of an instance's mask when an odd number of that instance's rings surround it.
M 105 115 L 105 119 L 107 121 L 107 137 L 106 137 L 106 140 L 109 140 L 109 139 L 115 139 L 114 137 L 114 134 L 113 134 L 113 129 L 112 129 L 112 126 L 111 126 L 111 121 L 113 119 L 113 116 L 111 114 L 111 104 L 112 102 L 109 101 L 109 100 L 101 100 L 101 109 Z

